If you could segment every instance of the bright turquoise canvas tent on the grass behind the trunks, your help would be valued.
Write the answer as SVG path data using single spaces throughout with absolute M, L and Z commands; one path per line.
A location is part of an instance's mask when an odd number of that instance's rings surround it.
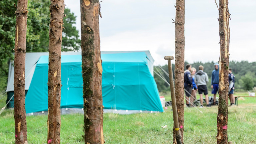
M 101 54 L 103 106 L 163 111 L 145 52 Z M 61 108 L 83 108 L 81 55 L 61 57 Z M 26 113 L 48 110 L 48 56 L 39 58 L 26 95 Z M 104 111 L 105 111 L 104 110 Z

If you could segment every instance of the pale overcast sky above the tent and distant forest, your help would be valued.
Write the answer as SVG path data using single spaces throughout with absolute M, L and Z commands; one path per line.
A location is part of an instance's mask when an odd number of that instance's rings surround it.
M 77 16 L 80 31 L 80 1 L 65 0 L 65 4 Z M 175 0 L 102 0 L 100 4 L 101 51 L 149 50 L 154 65 L 165 65 L 164 56 L 175 55 Z M 230 61 L 256 61 L 255 7 L 255 0 L 229 0 Z M 218 17 L 214 0 L 185 0 L 185 61 L 219 61 Z

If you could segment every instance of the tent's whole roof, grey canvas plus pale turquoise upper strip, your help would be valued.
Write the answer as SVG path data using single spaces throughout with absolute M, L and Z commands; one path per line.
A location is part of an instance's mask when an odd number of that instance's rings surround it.
M 113 55 L 113 54 L 118 55 Z M 132 53 L 132 54 L 131 54 Z M 48 64 L 48 52 L 27 52 L 25 60 L 25 90 L 29 89 L 35 67 L 37 63 Z M 144 63 L 147 61 L 149 69 L 153 75 L 153 62 L 149 51 L 101 51 L 101 59 L 103 62 L 137 62 Z M 105 55 L 107 54 L 107 55 Z M 145 57 L 146 54 L 146 57 Z M 65 62 L 81 62 L 81 52 L 61 52 L 61 63 Z M 72 55 L 72 58 L 67 58 L 66 55 Z M 79 55 L 79 56 L 78 56 Z M 39 59 L 40 58 L 40 59 Z M 13 61 L 9 63 L 9 74 L 6 92 L 14 91 L 13 87 L 14 79 L 14 66 Z

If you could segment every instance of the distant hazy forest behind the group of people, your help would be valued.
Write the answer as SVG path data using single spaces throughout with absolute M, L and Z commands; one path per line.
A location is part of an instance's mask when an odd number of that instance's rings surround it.
M 185 67 L 188 64 L 188 62 L 185 61 Z M 191 64 L 191 63 L 190 63 Z M 195 67 L 198 71 L 198 66 L 202 65 L 204 66 L 204 72 L 207 73 L 209 78 L 209 83 L 207 84 L 208 90 L 211 90 L 211 76 L 212 71 L 214 70 L 214 62 L 194 62 L 192 63 L 192 67 Z M 165 70 L 168 73 L 168 66 L 164 65 L 161 66 L 163 70 Z M 167 82 L 169 82 L 168 76 L 161 70 L 159 66 L 154 66 L 154 79 L 157 84 L 157 88 L 159 92 L 165 92 L 169 91 L 169 85 L 162 80 L 156 73 L 158 73 L 160 76 L 164 77 Z M 256 62 L 248 62 L 248 61 L 230 61 L 229 62 L 229 68 L 232 69 L 232 73 L 235 76 L 235 91 L 250 91 L 254 90 L 256 87 Z M 172 70 L 174 74 L 174 64 L 172 64 Z M 186 68 L 185 68 L 186 70 Z M 174 76 L 173 76 L 174 78 Z

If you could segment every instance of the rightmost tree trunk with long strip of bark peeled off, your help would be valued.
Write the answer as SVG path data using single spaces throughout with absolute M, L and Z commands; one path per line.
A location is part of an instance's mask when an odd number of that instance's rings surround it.
M 229 66 L 229 11 L 228 0 L 220 0 L 219 4 L 219 108 L 217 116 L 217 143 L 228 143 L 228 66 Z

